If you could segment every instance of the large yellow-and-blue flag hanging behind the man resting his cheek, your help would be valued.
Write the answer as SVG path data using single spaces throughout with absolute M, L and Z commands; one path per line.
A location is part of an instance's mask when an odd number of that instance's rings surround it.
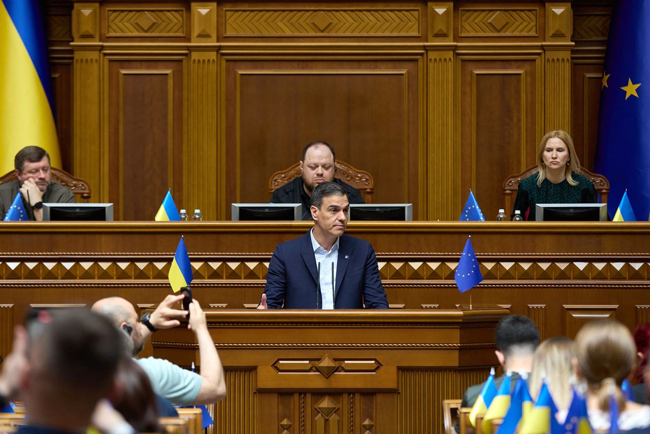
M 0 174 L 31 145 L 61 167 L 44 29 L 38 0 L 0 0 Z

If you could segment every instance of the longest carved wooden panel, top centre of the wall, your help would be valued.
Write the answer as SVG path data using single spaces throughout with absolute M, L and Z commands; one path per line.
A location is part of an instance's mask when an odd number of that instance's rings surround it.
M 420 36 L 420 9 L 224 8 L 224 36 Z

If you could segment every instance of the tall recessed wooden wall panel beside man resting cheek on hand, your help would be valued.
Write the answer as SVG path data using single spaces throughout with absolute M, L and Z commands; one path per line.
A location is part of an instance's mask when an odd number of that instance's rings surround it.
M 185 59 L 107 55 L 105 183 L 116 219 L 152 220 L 168 188 L 183 203 Z

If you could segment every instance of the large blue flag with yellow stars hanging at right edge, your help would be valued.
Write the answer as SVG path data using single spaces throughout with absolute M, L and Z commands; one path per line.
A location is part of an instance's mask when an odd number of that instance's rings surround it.
M 610 182 L 610 216 L 625 189 L 650 213 L 650 0 L 614 3 L 601 85 L 595 170 Z

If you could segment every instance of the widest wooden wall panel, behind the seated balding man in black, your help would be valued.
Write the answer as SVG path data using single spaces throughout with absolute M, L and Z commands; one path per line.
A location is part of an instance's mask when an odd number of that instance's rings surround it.
M 426 185 L 421 53 L 302 61 L 229 58 L 225 49 L 222 55 L 222 99 L 236 107 L 225 121 L 226 161 L 235 163 L 227 168 L 226 204 L 267 202 L 270 174 L 322 139 L 337 158 L 372 174 L 373 202 L 411 202 L 419 215 Z

